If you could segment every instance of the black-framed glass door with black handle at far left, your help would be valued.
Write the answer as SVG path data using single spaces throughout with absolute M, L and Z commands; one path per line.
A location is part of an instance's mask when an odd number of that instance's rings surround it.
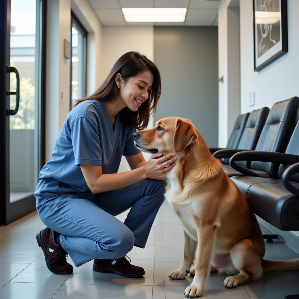
M 6 22 L 1 65 L 1 107 L 5 186 L 1 223 L 7 225 L 35 210 L 33 196 L 44 163 L 45 1 L 5 0 Z M 43 113 L 44 114 L 44 113 Z M 43 153 L 43 154 L 42 154 Z

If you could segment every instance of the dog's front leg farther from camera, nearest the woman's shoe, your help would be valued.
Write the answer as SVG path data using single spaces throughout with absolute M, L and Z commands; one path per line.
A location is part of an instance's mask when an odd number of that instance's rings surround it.
M 190 236 L 184 231 L 184 260 L 179 269 L 173 270 L 168 275 L 172 279 L 184 279 L 190 272 L 191 265 L 194 261 L 195 250 L 197 242 L 190 238 Z

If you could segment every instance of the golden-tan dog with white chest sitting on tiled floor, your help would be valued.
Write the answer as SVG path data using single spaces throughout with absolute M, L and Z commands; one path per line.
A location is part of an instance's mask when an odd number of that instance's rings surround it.
M 142 151 L 176 153 L 176 165 L 165 173 L 165 198 L 184 229 L 184 259 L 169 277 L 194 275 L 185 297 L 201 296 L 213 271 L 230 275 L 223 285 L 234 288 L 261 278 L 264 271 L 299 270 L 299 259 L 263 259 L 265 243 L 254 213 L 189 119 L 162 118 L 138 133 L 134 142 Z

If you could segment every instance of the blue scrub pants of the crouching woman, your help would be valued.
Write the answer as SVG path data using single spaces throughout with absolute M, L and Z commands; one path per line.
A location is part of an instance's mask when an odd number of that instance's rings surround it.
M 144 248 L 164 201 L 166 182 L 145 179 L 93 195 L 36 197 L 42 222 L 60 233 L 60 243 L 76 267 L 98 259 L 117 259 Z M 130 209 L 124 223 L 114 216 Z

